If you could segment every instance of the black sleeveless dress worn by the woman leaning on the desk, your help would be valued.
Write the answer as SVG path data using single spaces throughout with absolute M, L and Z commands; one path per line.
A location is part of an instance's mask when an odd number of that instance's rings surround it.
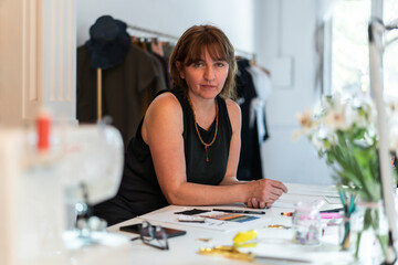
M 187 181 L 200 184 L 217 186 L 226 174 L 229 157 L 232 127 L 228 116 L 226 100 L 217 96 L 218 132 L 213 145 L 208 147 L 209 161 L 195 128 L 192 109 L 182 93 L 171 92 L 181 104 L 184 113 L 184 146 L 186 157 Z M 140 121 L 136 136 L 129 141 L 125 153 L 125 167 L 119 190 L 115 198 L 94 206 L 94 214 L 105 219 L 108 225 L 148 213 L 168 205 L 154 169 L 149 147 L 142 137 Z M 205 142 L 210 142 L 216 131 L 216 120 L 209 130 L 198 126 Z M 161 134 L 161 131 L 159 131 Z M 165 139 L 167 140 L 167 139 Z

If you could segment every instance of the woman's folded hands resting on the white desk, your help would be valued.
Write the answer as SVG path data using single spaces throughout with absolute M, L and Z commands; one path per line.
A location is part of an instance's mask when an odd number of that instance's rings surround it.
M 251 181 L 251 195 L 247 202 L 249 208 L 270 208 L 283 193 L 287 192 L 287 188 L 277 180 L 261 179 Z

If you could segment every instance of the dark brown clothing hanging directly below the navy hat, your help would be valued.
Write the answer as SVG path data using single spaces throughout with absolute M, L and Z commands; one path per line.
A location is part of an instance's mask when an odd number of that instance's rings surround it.
M 95 123 L 97 117 L 97 70 L 91 65 L 86 45 L 77 49 L 76 114 L 80 123 Z M 144 98 L 149 102 L 166 88 L 157 61 L 130 45 L 118 65 L 102 71 L 103 116 L 111 116 L 121 131 L 125 147 L 143 117 Z

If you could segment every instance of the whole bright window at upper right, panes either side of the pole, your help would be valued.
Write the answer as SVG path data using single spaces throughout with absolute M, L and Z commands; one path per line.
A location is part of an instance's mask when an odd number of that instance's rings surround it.
M 380 8 L 384 7 L 384 8 Z M 380 11 L 379 11 L 380 10 Z M 333 12 L 328 56 L 332 93 L 369 93 L 369 50 L 367 28 L 371 14 L 385 23 L 398 19 L 398 0 L 344 0 Z M 384 14 L 384 15 L 383 15 Z M 390 35 L 398 36 L 397 32 Z M 386 94 L 398 97 L 398 41 L 384 53 L 384 85 Z M 326 68 L 325 68 L 326 70 Z

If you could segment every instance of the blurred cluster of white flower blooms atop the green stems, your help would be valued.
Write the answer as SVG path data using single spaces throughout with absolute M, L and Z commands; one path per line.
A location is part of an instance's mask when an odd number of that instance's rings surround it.
M 398 150 L 398 98 L 389 98 L 386 103 L 388 117 L 389 142 L 391 150 Z M 294 132 L 294 138 L 307 136 L 317 151 L 325 152 L 336 145 L 337 131 L 354 136 L 360 129 L 363 138 L 356 139 L 358 145 L 377 145 L 376 107 L 370 97 L 342 97 L 336 94 L 323 97 L 313 108 L 313 115 L 307 109 L 297 113 L 301 130 Z M 358 137 L 354 136 L 354 137 Z

